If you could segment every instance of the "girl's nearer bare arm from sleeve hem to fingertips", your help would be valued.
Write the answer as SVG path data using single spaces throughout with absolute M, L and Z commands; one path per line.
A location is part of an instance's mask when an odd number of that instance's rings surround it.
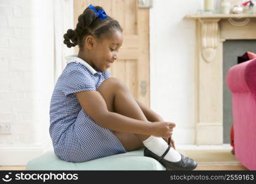
M 80 91 L 74 93 L 84 112 L 99 126 L 112 131 L 169 137 L 173 123 L 140 121 L 119 113 L 108 111 L 105 100 L 98 91 Z

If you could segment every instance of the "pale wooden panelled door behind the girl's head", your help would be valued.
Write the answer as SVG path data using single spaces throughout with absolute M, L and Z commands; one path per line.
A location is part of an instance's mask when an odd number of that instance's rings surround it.
M 138 8 L 137 0 L 74 0 L 75 26 L 89 4 L 103 7 L 124 29 L 111 76 L 124 81 L 134 97 L 150 107 L 149 10 Z

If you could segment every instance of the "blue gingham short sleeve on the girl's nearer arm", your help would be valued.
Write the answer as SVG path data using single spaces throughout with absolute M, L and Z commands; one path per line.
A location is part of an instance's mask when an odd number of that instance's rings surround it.
M 86 71 L 73 69 L 63 77 L 62 91 L 67 96 L 79 91 L 95 91 L 94 80 Z

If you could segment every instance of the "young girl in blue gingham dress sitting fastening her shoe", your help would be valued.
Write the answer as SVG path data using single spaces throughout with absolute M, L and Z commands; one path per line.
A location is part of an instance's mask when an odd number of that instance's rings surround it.
M 50 101 L 49 131 L 58 158 L 84 162 L 144 147 L 145 156 L 167 169 L 196 168 L 196 161 L 170 147 L 175 124 L 162 120 L 134 99 L 121 80 L 110 77 L 108 68 L 122 45 L 118 21 L 90 5 L 64 38 L 69 48 L 79 45 L 79 53 L 66 58 Z

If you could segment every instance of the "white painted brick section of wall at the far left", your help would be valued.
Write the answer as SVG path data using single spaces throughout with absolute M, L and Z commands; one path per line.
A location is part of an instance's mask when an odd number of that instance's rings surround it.
M 33 109 L 33 101 L 24 99 L 24 93 L 30 90 L 29 86 L 33 83 L 33 68 L 29 67 L 31 58 L 23 55 L 32 47 L 29 42 L 31 37 L 23 34 L 23 29 L 31 29 L 31 17 L 22 12 L 26 6 L 24 1 L 13 3 L 0 1 L 0 123 L 10 122 L 12 129 L 12 134 L 0 135 L 0 144 L 4 145 L 34 143 L 31 126 L 28 126 L 33 118 L 23 118 L 24 113 Z M 24 132 L 28 138 L 26 143 L 18 138 Z

